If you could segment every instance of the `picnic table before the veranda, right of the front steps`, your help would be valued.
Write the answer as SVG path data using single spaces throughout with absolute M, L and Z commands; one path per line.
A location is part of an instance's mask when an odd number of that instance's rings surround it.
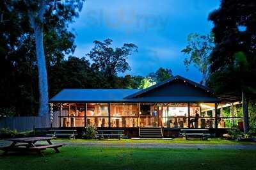
M 209 134 L 209 129 L 205 128 L 184 128 L 180 129 L 182 131 L 181 135 L 188 140 L 189 137 L 200 137 L 202 140 L 207 139 L 211 134 Z

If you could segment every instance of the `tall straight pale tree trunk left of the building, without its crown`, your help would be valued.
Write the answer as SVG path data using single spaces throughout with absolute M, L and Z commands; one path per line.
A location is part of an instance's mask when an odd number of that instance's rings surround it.
M 48 98 L 48 82 L 47 70 L 44 55 L 44 30 L 42 26 L 36 22 L 33 23 L 36 42 L 36 59 L 38 67 L 38 87 L 40 94 L 39 116 L 47 116 L 49 111 L 49 98 Z

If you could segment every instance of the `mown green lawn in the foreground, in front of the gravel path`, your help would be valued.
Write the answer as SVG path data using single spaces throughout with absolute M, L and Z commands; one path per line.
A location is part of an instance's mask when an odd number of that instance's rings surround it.
M 60 148 L 0 157 L 0 169 L 255 169 L 256 150 Z

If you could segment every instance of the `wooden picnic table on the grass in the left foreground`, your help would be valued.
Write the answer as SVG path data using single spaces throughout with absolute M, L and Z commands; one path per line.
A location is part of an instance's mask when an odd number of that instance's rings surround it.
M 46 150 L 47 148 L 54 149 L 56 153 L 60 153 L 58 148 L 64 146 L 65 144 L 52 144 L 51 139 L 53 138 L 54 137 L 22 137 L 3 139 L 5 141 L 11 141 L 12 144 L 10 144 L 10 146 L 1 147 L 0 150 L 4 151 L 3 155 L 6 155 L 9 151 L 35 151 L 36 153 L 44 157 L 44 154 L 41 151 Z M 47 141 L 48 144 L 36 144 L 37 141 Z

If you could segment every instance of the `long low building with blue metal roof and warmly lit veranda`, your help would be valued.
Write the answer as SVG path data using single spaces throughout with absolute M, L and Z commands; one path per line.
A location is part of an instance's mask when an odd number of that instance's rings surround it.
M 147 89 L 63 89 L 50 100 L 58 108 L 58 127 L 123 128 L 129 136 L 140 135 L 145 127 L 161 128 L 166 136 L 180 128 L 227 128 L 241 120 L 234 112 L 236 101 L 216 97 L 211 89 L 179 75 Z M 193 122 L 196 112 L 199 118 Z

